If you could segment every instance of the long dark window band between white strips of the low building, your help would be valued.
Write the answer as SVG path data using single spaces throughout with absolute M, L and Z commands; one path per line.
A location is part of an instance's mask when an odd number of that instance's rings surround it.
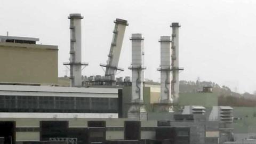
M 0 112 L 117 113 L 117 98 L 0 95 Z

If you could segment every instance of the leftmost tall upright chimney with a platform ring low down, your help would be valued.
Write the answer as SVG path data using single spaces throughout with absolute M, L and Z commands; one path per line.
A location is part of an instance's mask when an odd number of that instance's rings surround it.
M 69 63 L 63 65 L 70 66 L 71 86 L 82 86 L 82 66 L 88 63 L 81 62 L 81 19 L 83 16 L 79 13 L 69 14 L 70 19 L 70 58 Z

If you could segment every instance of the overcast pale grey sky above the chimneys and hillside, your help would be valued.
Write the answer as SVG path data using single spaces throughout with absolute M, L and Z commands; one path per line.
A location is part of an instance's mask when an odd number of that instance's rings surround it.
M 238 92 L 256 90 L 256 1 L 250 0 L 0 0 L 0 35 L 40 38 L 39 43 L 59 46 L 59 76 L 69 58 L 69 13 L 81 13 L 82 59 L 89 62 L 83 75 L 103 75 L 113 21 L 129 22 L 126 29 L 118 76 L 131 75 L 132 33 L 145 37 L 146 78 L 159 81 L 158 39 L 171 35 L 171 22 L 180 28 L 180 79 L 212 81 L 237 87 Z

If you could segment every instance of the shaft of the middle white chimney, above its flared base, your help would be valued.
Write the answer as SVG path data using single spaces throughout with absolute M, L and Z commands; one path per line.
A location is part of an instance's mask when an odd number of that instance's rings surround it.
M 143 102 L 143 37 L 132 34 L 132 102 Z

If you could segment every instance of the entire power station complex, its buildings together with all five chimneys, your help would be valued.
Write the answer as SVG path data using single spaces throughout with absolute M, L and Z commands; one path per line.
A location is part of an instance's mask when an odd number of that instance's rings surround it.
M 179 23 L 172 23 L 171 36 L 160 37 L 161 63 L 158 70 L 161 85 L 155 86 L 143 84 L 146 66 L 142 34 L 131 34 L 130 38 L 132 61 L 129 69 L 132 77 L 125 77 L 124 81 L 116 78 L 116 71 L 122 70 L 118 61 L 128 25 L 122 19 L 114 21 L 108 61 L 100 64 L 106 67 L 105 75 L 82 79 L 81 71 L 89 65 L 81 62 L 83 16 L 75 13 L 68 18 L 70 58 L 63 64 L 70 68 L 71 87 L 57 85 L 57 46 L 37 45 L 39 39 L 35 38 L 2 37 L 0 44 L 10 45 L 3 55 L 17 54 L 17 57 L 13 56 L 17 60 L 0 65 L 15 65 L 17 61 L 24 63 L 23 69 L 17 69 L 20 74 L 10 73 L 13 76 L 9 79 L 0 77 L 3 81 L 0 85 L 0 143 L 213 144 L 233 139 L 231 107 L 206 109 L 178 105 L 179 71 L 183 70 L 179 67 Z M 12 49 L 22 50 L 25 54 L 12 53 Z M 32 57 L 34 52 L 36 59 Z M 43 56 L 45 60 L 41 61 Z M 37 74 L 27 59 L 31 59 L 36 67 L 42 65 L 45 75 Z M 51 65 L 46 65 L 50 61 Z M 29 70 L 27 77 L 22 77 L 26 70 Z M 15 77 L 15 81 L 11 79 Z

